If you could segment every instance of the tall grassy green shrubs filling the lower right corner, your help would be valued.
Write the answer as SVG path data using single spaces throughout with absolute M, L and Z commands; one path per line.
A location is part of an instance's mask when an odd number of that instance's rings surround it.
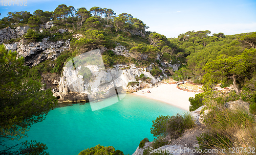
M 227 101 L 237 100 L 237 97 L 238 95 L 234 92 L 228 94 L 211 92 L 204 99 L 209 113 L 204 115 L 203 121 L 209 132 L 197 137 L 201 149 L 220 150 L 221 148 L 256 146 L 254 115 L 244 107 L 233 110 L 225 107 Z

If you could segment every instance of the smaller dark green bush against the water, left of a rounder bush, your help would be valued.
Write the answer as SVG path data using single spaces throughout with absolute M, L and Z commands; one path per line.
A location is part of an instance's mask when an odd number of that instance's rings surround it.
M 165 136 L 166 133 L 166 125 L 168 120 L 170 119 L 170 116 L 159 116 L 156 120 L 153 120 L 152 127 L 150 128 L 151 134 L 153 134 L 154 137 L 157 136 Z

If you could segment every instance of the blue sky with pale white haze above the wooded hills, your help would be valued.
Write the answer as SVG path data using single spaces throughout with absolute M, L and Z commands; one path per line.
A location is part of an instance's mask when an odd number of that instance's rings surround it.
M 2 1 L 2 0 L 1 0 Z M 60 4 L 85 7 L 111 8 L 120 14 L 126 12 L 142 20 L 150 29 L 167 38 L 177 38 L 187 31 L 209 30 L 211 34 L 222 32 L 225 35 L 256 31 L 255 0 L 222 0 L 222 1 L 99 1 L 99 0 L 26 0 L 27 6 L 2 6 L 0 1 L 0 18 L 8 12 L 36 10 L 54 11 Z M 3 2 L 6 0 L 3 0 Z M 14 0 L 13 0 L 14 1 Z M 12 2 L 13 2 L 12 1 Z M 20 0 L 19 0 L 20 1 Z M 17 2 L 17 0 L 16 0 Z M 3 3 L 4 5 L 4 3 Z

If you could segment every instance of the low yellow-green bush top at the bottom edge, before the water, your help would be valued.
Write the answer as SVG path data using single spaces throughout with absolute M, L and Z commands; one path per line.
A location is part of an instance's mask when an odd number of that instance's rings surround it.
M 78 155 L 124 155 L 122 151 L 116 150 L 113 146 L 97 145 L 81 151 Z

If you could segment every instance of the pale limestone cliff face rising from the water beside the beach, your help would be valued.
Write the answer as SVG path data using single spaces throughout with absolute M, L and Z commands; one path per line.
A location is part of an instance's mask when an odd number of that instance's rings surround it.
M 146 72 L 146 68 L 136 68 L 135 65 L 115 65 L 108 69 L 99 68 L 97 65 L 86 66 L 94 77 L 91 81 L 85 80 L 85 77 L 79 74 L 81 67 L 76 66 L 76 70 L 73 67 L 64 67 L 59 81 L 59 92 L 54 93 L 55 96 L 59 96 L 59 102 L 102 99 L 112 96 L 116 91 L 134 92 L 141 87 L 152 87 L 157 82 L 150 72 Z M 150 84 L 140 81 L 138 85 L 126 87 L 129 82 L 136 82 L 136 76 L 142 73 L 150 77 Z

